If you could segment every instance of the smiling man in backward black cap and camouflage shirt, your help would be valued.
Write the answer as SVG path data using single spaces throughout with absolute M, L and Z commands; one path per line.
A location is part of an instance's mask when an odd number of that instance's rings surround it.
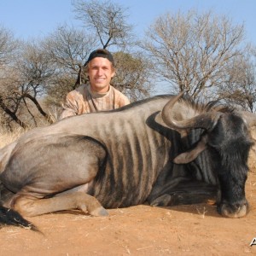
M 89 84 L 67 94 L 59 119 L 101 110 L 111 110 L 130 103 L 119 90 L 110 85 L 115 74 L 113 55 L 107 49 L 96 49 L 90 53 L 85 71 Z

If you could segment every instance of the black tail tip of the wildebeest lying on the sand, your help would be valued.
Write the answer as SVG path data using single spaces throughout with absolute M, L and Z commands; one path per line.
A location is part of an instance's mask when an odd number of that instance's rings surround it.
M 19 212 L 15 212 L 14 210 L 3 206 L 0 206 L 0 225 L 14 225 L 29 230 L 39 231 L 35 225 L 23 218 Z

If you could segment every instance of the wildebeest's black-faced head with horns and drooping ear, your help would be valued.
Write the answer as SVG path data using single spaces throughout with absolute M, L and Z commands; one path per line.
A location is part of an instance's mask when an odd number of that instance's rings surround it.
M 204 132 L 193 148 L 177 155 L 173 161 L 189 163 L 207 149 L 209 169 L 216 173 L 221 191 L 218 212 L 229 218 L 245 216 L 248 212 L 245 197 L 247 158 L 253 145 L 249 129 L 256 123 L 255 115 L 216 107 L 199 113 L 189 102 L 179 100 L 182 95 L 166 104 L 162 119 L 182 137 L 192 129 L 201 128 Z

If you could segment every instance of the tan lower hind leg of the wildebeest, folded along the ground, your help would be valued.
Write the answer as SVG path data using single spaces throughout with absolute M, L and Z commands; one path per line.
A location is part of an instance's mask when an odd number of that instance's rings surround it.
M 16 194 L 11 207 L 24 217 L 38 216 L 49 212 L 79 209 L 93 216 L 106 216 L 108 212 L 95 197 L 84 192 L 74 192 L 51 198 L 32 198 Z

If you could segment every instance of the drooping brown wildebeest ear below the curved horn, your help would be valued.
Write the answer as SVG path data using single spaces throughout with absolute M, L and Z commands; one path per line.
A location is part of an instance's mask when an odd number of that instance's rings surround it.
M 206 149 L 206 145 L 207 136 L 202 136 L 194 148 L 190 148 L 188 151 L 178 154 L 177 157 L 174 158 L 173 162 L 175 164 L 188 164 L 192 162 L 199 154 L 201 154 L 202 151 Z

